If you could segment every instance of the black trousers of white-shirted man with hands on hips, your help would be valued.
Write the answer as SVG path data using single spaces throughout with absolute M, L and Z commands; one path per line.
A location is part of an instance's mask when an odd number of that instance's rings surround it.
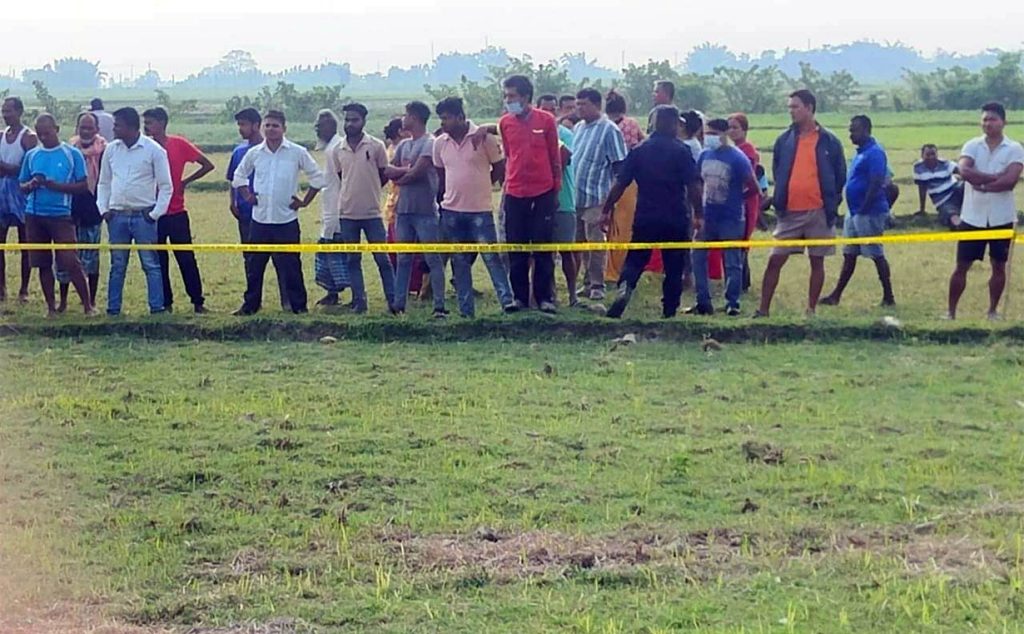
M 249 226 L 249 243 L 254 245 L 292 245 L 301 238 L 299 221 L 285 224 L 263 224 L 252 221 Z M 302 260 L 298 253 L 276 253 L 251 251 L 247 253 L 246 294 L 242 307 L 250 312 L 259 310 L 263 304 L 263 276 L 271 259 L 278 272 L 278 280 L 284 280 L 288 287 L 288 299 L 292 311 L 306 311 L 306 284 L 302 279 Z

